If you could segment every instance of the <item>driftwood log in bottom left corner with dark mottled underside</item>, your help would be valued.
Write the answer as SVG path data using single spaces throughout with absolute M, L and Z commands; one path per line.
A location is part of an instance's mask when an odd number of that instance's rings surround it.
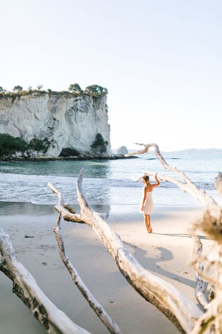
M 13 282 L 13 292 L 50 334 L 89 334 L 74 324 L 38 287 L 30 272 L 16 258 L 9 235 L 0 228 L 0 270 Z M 31 330 L 30 330 L 31 331 Z

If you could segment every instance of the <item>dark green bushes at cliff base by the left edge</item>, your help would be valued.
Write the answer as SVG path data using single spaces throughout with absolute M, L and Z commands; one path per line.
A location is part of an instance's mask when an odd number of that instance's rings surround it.
M 27 142 L 22 138 L 13 137 L 9 134 L 0 134 L 0 157 L 14 154 L 16 151 L 24 152 L 27 146 Z

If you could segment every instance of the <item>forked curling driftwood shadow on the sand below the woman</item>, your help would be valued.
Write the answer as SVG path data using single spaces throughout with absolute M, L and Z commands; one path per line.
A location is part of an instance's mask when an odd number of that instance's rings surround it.
M 195 288 L 196 281 L 190 280 L 185 276 L 180 276 L 179 274 L 175 274 L 173 272 L 167 271 L 166 269 L 161 268 L 158 263 L 170 261 L 173 259 L 173 254 L 169 249 L 166 249 L 164 247 L 155 247 L 155 249 L 160 251 L 160 254 L 154 255 L 154 257 L 146 257 L 147 251 L 145 251 L 142 248 L 139 248 L 136 245 L 124 242 L 126 246 L 131 247 L 134 249 L 135 254 L 134 256 L 137 258 L 138 262 L 147 270 L 156 272 L 160 275 L 163 275 L 165 277 L 169 277 L 169 279 L 181 282 L 183 284 L 186 284 L 192 288 Z M 184 275 L 187 275 L 187 271 L 178 271 L 183 273 Z

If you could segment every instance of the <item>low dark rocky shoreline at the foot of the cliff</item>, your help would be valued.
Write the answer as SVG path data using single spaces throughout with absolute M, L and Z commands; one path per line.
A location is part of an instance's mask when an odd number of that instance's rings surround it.
M 136 156 L 125 157 L 122 154 L 114 154 L 113 157 L 108 156 L 88 156 L 78 155 L 69 157 L 47 157 L 47 156 L 15 156 L 1 157 L 0 162 L 23 162 L 23 161 L 57 161 L 57 160 L 116 160 L 116 159 L 136 159 Z

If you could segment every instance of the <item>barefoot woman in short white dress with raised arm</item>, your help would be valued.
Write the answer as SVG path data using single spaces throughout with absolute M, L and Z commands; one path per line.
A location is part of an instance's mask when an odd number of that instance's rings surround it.
M 144 183 L 144 196 L 141 200 L 140 210 L 139 212 L 144 214 L 144 221 L 147 228 L 147 232 L 152 232 L 152 227 L 150 224 L 150 214 L 153 213 L 153 199 L 152 199 L 152 191 L 153 188 L 158 187 L 160 181 L 157 179 L 157 173 L 155 174 L 156 183 L 151 184 L 150 178 L 148 174 L 145 174 L 142 177 L 142 181 Z

